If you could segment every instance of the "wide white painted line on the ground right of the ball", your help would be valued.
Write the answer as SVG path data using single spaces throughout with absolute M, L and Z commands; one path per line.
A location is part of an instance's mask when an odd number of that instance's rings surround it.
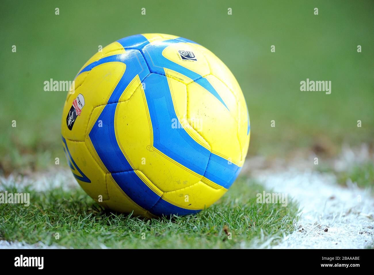
M 332 174 L 263 171 L 255 176 L 269 190 L 300 203 L 296 230 L 272 248 L 365 248 L 374 242 L 370 190 L 336 184 Z

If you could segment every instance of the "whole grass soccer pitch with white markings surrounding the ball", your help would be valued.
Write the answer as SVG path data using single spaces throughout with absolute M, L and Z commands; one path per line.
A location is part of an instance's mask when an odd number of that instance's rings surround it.
M 109 2 L 1 3 L 0 248 L 373 247 L 372 2 Z M 243 91 L 246 162 L 198 214 L 106 210 L 65 161 L 53 80 L 139 33 L 205 46 Z

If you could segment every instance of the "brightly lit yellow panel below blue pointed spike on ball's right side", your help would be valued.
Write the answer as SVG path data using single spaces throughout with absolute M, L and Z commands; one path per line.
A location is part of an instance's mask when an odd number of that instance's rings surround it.
M 217 83 L 212 84 L 218 87 Z M 217 92 L 223 98 L 230 97 L 227 91 Z M 197 132 L 209 143 L 211 152 L 241 166 L 242 150 L 237 137 L 237 120 L 214 95 L 197 83 L 188 84 L 187 93 L 187 116 L 200 121 L 202 127 Z

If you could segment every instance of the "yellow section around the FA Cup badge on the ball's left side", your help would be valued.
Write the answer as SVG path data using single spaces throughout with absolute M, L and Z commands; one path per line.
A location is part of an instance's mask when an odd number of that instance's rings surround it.
M 125 72 L 125 68 L 126 65 L 122 62 L 109 62 L 98 65 L 87 74 L 85 81 L 65 102 L 61 124 L 61 132 L 64 137 L 70 140 L 85 140 L 86 129 L 93 109 L 108 102 L 108 98 Z M 80 116 L 77 116 L 73 128 L 69 130 L 66 118 L 73 106 L 73 100 L 79 94 L 83 95 L 85 105 Z

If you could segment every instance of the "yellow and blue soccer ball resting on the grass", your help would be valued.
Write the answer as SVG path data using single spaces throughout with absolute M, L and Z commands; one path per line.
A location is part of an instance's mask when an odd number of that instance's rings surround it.
M 137 34 L 96 53 L 62 115 L 68 164 L 96 202 L 154 217 L 197 213 L 232 185 L 249 146 L 235 77 L 208 49 Z

